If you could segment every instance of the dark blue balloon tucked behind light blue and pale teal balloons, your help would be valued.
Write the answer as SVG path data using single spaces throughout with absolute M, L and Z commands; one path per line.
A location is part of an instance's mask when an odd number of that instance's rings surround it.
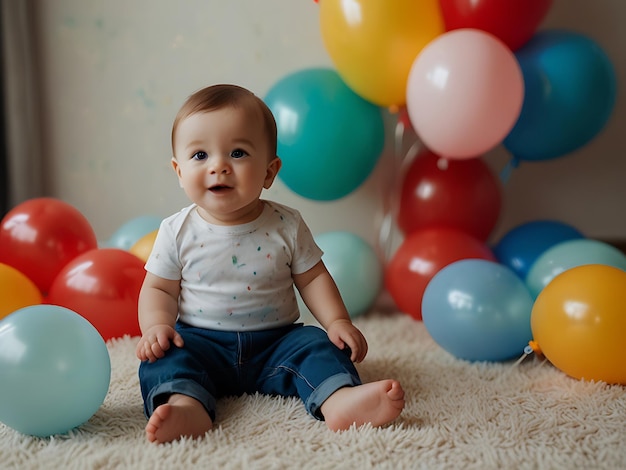
M 496 259 L 522 280 L 537 258 L 548 248 L 567 240 L 585 238 L 574 227 L 556 220 L 535 220 L 507 232 L 493 248 Z

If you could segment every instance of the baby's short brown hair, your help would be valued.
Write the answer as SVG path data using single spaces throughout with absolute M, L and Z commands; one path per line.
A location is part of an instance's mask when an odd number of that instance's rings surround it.
M 272 155 L 277 152 L 276 120 L 270 108 L 265 102 L 246 88 L 237 85 L 219 84 L 211 85 L 192 94 L 183 103 L 172 125 L 172 151 L 174 151 L 174 139 L 179 123 L 196 113 L 215 111 L 228 106 L 244 107 L 258 110 L 262 125 L 265 128 L 270 151 Z

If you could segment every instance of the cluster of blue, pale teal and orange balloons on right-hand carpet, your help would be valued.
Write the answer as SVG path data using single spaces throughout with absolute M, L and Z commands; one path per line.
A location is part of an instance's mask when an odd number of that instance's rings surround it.
M 554 220 L 515 227 L 493 254 L 451 262 L 426 284 L 422 319 L 440 346 L 502 361 L 533 340 L 572 377 L 626 384 L 626 255 Z

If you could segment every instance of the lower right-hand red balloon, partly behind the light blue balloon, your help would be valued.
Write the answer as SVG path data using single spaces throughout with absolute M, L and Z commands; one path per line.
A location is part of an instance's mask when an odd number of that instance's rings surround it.
M 429 228 L 411 233 L 385 270 L 385 287 L 403 312 L 422 320 L 426 286 L 441 269 L 467 258 L 495 261 L 491 250 L 459 230 Z

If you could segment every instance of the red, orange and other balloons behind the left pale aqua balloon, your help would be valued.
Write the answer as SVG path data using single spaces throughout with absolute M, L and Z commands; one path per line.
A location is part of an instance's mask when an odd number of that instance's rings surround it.
M 87 219 L 55 198 L 34 198 L 0 221 L 0 318 L 31 305 L 68 308 L 103 339 L 137 336 L 145 259 L 160 219 L 143 216 L 98 246 Z

